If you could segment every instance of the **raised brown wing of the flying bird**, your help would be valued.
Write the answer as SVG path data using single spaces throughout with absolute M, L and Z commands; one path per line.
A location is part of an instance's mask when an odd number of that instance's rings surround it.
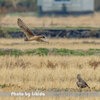
M 24 31 L 27 38 L 31 38 L 34 36 L 33 32 L 25 25 L 25 23 L 20 18 L 18 18 L 17 24 Z

